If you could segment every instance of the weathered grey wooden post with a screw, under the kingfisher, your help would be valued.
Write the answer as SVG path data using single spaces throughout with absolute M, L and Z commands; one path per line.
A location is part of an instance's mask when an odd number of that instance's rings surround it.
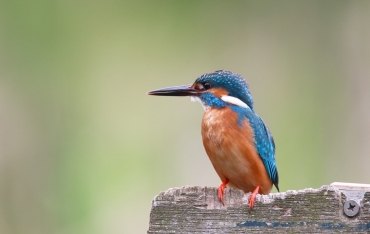
M 332 183 L 248 197 L 226 189 L 224 205 L 217 189 L 172 188 L 152 202 L 148 233 L 334 233 L 370 232 L 370 185 Z

